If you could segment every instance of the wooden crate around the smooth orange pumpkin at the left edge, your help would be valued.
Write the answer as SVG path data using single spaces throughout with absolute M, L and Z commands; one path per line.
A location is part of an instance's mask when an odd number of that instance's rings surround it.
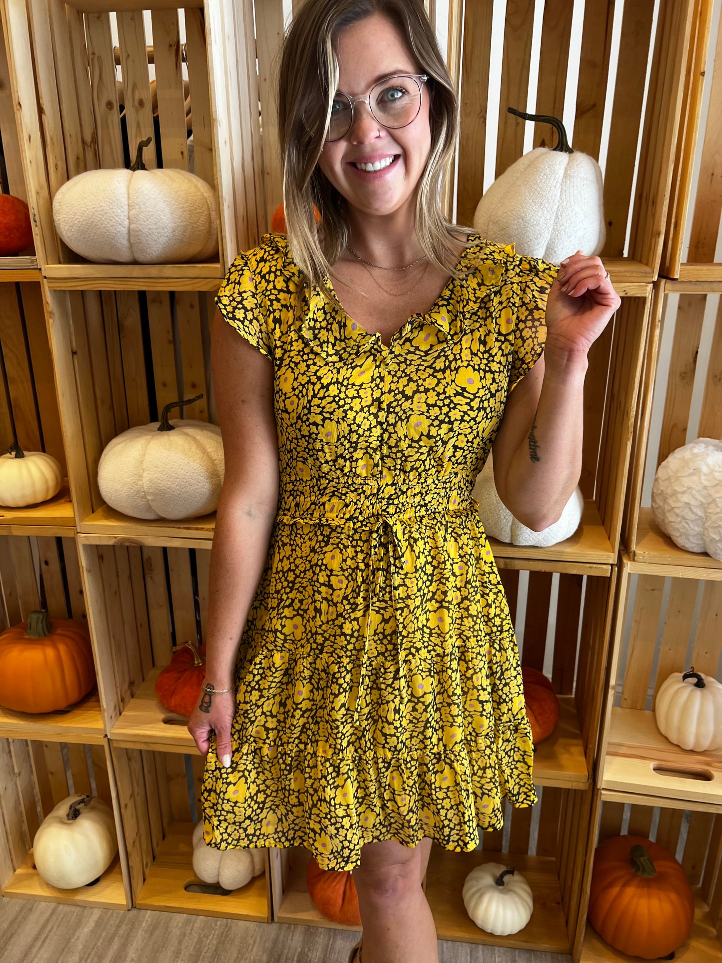
M 69 534 L 64 530 L 64 537 L 38 531 L 0 534 L 0 631 L 25 621 L 43 601 L 51 616 L 87 621 L 73 530 Z M 18 713 L 0 707 L 0 737 L 100 745 L 105 728 L 98 688 L 56 713 Z

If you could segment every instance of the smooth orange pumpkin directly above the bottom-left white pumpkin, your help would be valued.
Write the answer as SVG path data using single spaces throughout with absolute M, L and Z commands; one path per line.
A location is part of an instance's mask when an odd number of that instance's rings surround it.
M 88 626 L 28 612 L 0 635 L 0 705 L 18 713 L 53 713 L 95 685 Z

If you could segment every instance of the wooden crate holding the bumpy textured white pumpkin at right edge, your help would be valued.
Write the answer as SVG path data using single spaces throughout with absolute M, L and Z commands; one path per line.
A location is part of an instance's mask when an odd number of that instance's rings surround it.
M 668 455 L 697 437 L 722 435 L 721 292 L 722 280 L 660 278 L 655 284 L 623 516 L 623 540 L 634 561 L 722 570 L 722 561 L 706 552 L 686 552 L 675 545 L 660 531 L 652 508 L 642 504 L 649 501 L 645 478 L 654 478 L 653 471 Z M 661 364 L 663 340 L 668 349 L 665 365 Z M 655 418 L 660 428 L 653 434 Z

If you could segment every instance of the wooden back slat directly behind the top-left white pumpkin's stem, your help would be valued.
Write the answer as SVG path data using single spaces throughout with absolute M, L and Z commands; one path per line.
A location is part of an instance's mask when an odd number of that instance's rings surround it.
M 130 156 L 135 160 L 138 144 L 150 137 L 151 143 L 143 148 L 142 160 L 145 167 L 152 170 L 158 166 L 158 159 L 142 11 L 117 14 L 117 37 L 120 43 L 120 72 L 125 93 Z M 115 65 L 115 57 L 113 63 Z M 120 167 L 122 166 L 121 164 Z

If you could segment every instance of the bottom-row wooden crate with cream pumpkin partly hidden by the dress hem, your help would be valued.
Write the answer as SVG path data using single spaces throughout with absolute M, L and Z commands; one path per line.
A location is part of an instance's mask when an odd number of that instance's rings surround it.
M 187 730 L 186 735 L 190 740 Z M 165 752 L 133 746 L 111 738 L 134 905 L 270 923 L 268 857 L 266 872 L 230 894 L 203 884 L 193 872 L 192 836 L 200 819 L 204 767 L 194 745 L 193 753 L 178 746 Z M 207 892 L 195 892 L 189 886 L 205 886 Z

